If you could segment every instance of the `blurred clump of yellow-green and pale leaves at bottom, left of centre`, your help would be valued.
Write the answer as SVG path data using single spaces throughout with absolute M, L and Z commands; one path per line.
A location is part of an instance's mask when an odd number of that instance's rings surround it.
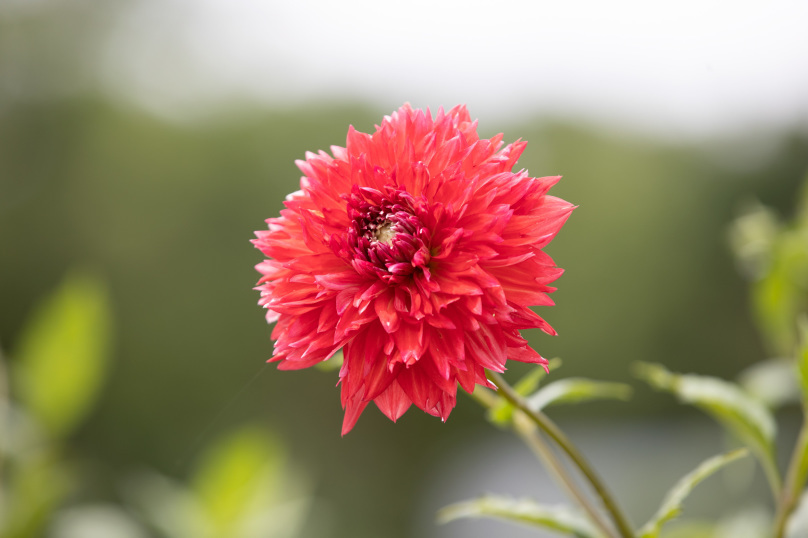
M 311 498 L 284 450 L 263 429 L 244 427 L 210 447 L 191 487 L 141 473 L 127 491 L 137 512 L 166 538 L 293 538 Z

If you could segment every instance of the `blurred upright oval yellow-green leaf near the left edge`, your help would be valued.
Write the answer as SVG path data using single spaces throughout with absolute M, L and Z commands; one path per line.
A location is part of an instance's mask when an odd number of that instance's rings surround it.
M 25 326 L 13 363 L 20 402 L 54 436 L 69 433 L 101 386 L 111 340 L 106 288 L 71 273 Z

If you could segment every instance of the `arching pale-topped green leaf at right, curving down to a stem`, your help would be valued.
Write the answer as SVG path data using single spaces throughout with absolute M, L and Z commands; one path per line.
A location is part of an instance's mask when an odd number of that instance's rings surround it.
M 673 374 L 658 364 L 637 363 L 635 374 L 651 386 L 695 405 L 737 435 L 758 457 L 772 490 L 780 488 L 774 459 L 777 426 L 766 407 L 728 381 L 700 375 Z

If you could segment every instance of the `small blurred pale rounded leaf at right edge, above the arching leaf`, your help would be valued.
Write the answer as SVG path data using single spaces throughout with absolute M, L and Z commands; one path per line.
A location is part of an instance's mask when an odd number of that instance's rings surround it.
M 741 372 L 738 384 L 769 409 L 800 401 L 800 383 L 791 359 L 770 359 Z

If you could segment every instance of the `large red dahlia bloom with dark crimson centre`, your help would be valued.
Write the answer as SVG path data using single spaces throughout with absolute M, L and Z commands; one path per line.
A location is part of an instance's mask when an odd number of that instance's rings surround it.
M 465 107 L 404 105 L 372 135 L 306 153 L 281 216 L 253 243 L 268 259 L 256 289 L 282 370 L 343 348 L 343 435 L 373 401 L 390 419 L 414 403 L 446 420 L 457 384 L 493 387 L 508 359 L 546 365 L 519 334 L 555 331 L 528 308 L 552 305 L 562 269 L 542 251 L 573 206 L 560 177 L 512 172 L 526 142 L 480 139 Z M 545 366 L 546 368 L 546 366 Z

